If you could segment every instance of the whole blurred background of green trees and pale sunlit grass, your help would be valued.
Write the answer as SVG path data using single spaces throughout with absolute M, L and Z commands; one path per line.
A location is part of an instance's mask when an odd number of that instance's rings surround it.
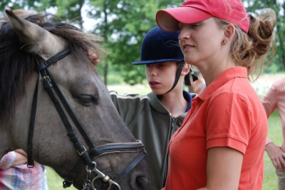
M 150 88 L 145 81 L 145 67 L 133 66 L 140 60 L 140 45 L 145 33 L 156 26 L 158 9 L 180 6 L 183 0 L 1 0 L 0 14 L 4 9 L 26 9 L 55 14 L 88 33 L 104 38 L 103 46 L 110 51 L 100 58 L 98 70 L 109 90 L 118 93 L 147 94 Z M 243 0 L 242 0 L 243 1 Z M 244 0 L 244 6 L 257 15 L 263 8 L 274 9 L 277 15 L 276 56 L 264 69 L 261 77 L 252 83 L 259 97 L 269 90 L 272 83 L 285 77 L 285 16 L 284 0 Z M 187 89 L 187 87 L 185 87 Z M 281 122 L 278 111 L 269 118 L 269 137 L 281 144 Z M 264 188 L 277 189 L 274 166 L 266 152 Z M 61 179 L 48 168 L 48 186 L 51 190 L 63 189 Z M 72 187 L 70 189 L 73 189 Z

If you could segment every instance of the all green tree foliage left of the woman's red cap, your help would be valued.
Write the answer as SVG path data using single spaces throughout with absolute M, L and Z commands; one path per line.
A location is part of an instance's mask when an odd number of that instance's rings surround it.
M 108 66 L 123 73 L 122 77 L 130 84 L 140 83 L 145 78 L 145 68 L 135 67 L 131 63 L 140 59 L 140 45 L 145 33 L 156 26 L 155 14 L 158 9 L 179 6 L 180 0 L 170 1 L 130 1 L 130 0 L 3 0 L 1 10 L 10 6 L 12 9 L 34 9 L 47 11 L 53 8 L 56 15 L 66 21 L 77 23 L 83 28 L 81 11 L 83 5 L 89 7 L 89 16 L 100 22 L 93 29 L 93 33 L 105 38 L 105 48 L 110 56 L 102 60 L 102 73 L 107 84 Z

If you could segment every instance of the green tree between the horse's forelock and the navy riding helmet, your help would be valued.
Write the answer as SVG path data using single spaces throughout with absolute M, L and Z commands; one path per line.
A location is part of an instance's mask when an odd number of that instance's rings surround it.
M 111 52 L 103 63 L 105 83 L 109 65 L 120 71 L 127 83 L 141 83 L 145 79 L 145 68 L 131 64 L 140 59 L 142 38 L 150 28 L 156 26 L 155 14 L 158 9 L 180 4 L 181 1 L 154 0 L 98 0 L 90 3 L 93 8 L 89 16 L 100 19 L 93 33 L 105 38 L 105 45 Z

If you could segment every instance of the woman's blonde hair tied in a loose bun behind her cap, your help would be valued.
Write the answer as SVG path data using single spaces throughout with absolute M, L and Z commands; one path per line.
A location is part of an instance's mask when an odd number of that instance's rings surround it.
M 236 65 L 247 68 L 249 80 L 259 78 L 264 65 L 272 63 L 275 55 L 274 26 L 276 14 L 272 9 L 262 9 L 259 16 L 249 17 L 249 32 L 245 33 L 241 28 L 234 25 L 236 34 L 232 41 L 229 53 Z M 229 23 L 216 19 L 219 26 L 224 28 Z

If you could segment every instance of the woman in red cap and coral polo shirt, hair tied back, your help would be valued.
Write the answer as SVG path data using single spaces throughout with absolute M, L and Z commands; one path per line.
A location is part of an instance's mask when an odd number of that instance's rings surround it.
M 247 77 L 273 47 L 274 11 L 255 18 L 240 0 L 187 0 L 156 21 L 180 30 L 185 62 L 206 83 L 170 139 L 165 189 L 262 189 L 267 120 Z

